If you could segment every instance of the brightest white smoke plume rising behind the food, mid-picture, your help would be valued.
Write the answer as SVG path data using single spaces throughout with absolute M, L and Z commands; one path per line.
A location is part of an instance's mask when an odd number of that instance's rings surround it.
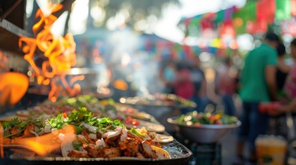
M 126 80 L 132 95 L 152 94 L 164 88 L 157 78 L 159 63 L 139 50 L 141 36 L 131 30 L 120 30 L 109 37 L 108 43 L 112 45 L 109 63 L 113 64 L 114 79 Z

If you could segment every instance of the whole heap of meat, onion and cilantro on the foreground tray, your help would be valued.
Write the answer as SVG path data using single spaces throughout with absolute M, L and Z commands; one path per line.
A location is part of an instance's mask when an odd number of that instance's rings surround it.
M 14 118 L 10 122 L 3 122 L 2 126 L 8 145 L 15 144 L 14 140 L 17 140 L 17 144 L 30 146 L 23 141 L 29 142 L 28 138 L 36 137 L 41 142 L 41 137 L 50 135 L 46 139 L 58 144 L 63 157 L 170 157 L 159 142 L 153 140 L 153 135 L 144 133 L 147 132 L 144 129 L 128 129 L 119 120 L 94 117 L 86 108 L 73 110 L 68 115 L 61 113 L 46 120 L 22 121 Z M 71 131 L 67 131 L 69 126 Z M 40 144 L 39 146 L 45 146 L 45 143 Z M 38 154 L 46 155 L 52 151 L 55 149 Z

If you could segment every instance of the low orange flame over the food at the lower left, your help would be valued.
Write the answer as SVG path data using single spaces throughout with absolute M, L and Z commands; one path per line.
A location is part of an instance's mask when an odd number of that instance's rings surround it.
M 61 148 L 61 142 L 68 143 L 71 138 L 61 138 L 59 135 L 74 135 L 75 129 L 73 126 L 65 126 L 63 129 L 59 129 L 58 133 L 48 133 L 39 137 L 20 138 L 15 140 L 15 144 L 26 146 L 31 151 L 34 151 L 38 155 L 46 156 L 52 151 L 57 151 Z

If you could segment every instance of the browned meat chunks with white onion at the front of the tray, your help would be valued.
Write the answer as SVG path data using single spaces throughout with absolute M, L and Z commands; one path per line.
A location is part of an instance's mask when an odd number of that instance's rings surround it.
M 81 135 L 75 135 L 70 142 L 61 142 L 61 153 L 63 157 L 169 158 L 170 154 L 159 146 L 148 137 L 141 137 L 117 126 L 103 134 L 83 130 Z

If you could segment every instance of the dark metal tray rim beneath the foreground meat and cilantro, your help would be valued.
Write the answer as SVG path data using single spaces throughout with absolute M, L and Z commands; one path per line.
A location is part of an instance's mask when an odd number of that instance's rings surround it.
M 6 148 L 4 159 L 0 159 L 0 164 L 186 164 L 193 154 L 184 145 L 174 140 L 167 144 L 161 144 L 170 153 L 167 159 L 139 159 L 137 157 L 115 157 L 115 158 L 68 158 L 68 157 L 28 157 L 21 154 L 14 155 L 10 148 Z

